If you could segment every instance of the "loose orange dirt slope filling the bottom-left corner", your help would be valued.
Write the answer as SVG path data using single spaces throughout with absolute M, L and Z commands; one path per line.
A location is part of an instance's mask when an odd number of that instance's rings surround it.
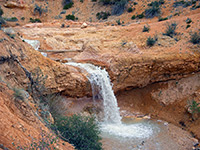
M 33 148 L 34 142 L 47 142 L 52 149 L 73 150 L 72 145 L 60 139 L 54 144 L 50 143 L 56 136 L 38 116 L 31 96 L 23 90 L 26 98 L 17 99 L 10 85 L 8 81 L 0 79 L 0 149 L 14 150 L 18 146 Z

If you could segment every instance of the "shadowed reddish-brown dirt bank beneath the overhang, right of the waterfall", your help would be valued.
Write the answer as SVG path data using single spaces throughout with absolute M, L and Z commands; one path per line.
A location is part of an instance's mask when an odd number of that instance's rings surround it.
M 200 101 L 199 79 L 200 74 L 197 73 L 180 80 L 121 91 L 116 94 L 118 104 L 121 110 L 165 120 L 200 139 L 200 118 L 196 116 L 193 120 L 188 111 L 189 101 Z

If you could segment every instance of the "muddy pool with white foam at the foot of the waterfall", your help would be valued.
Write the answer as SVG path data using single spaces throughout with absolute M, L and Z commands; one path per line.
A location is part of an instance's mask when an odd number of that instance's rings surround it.
M 149 119 L 123 118 L 122 124 L 100 124 L 104 150 L 179 149 L 167 125 Z

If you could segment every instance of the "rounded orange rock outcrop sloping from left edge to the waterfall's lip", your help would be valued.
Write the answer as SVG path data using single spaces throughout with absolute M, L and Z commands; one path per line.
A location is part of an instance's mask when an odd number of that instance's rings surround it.
M 42 56 L 27 43 L 22 42 L 17 37 L 11 39 L 0 31 L 0 57 L 9 57 L 12 53 L 16 55 L 21 64 L 32 72 L 35 68 L 40 68 L 44 75 L 47 75 L 46 86 L 53 93 L 63 93 L 68 96 L 83 96 L 90 94 L 90 84 L 87 78 L 79 69 L 67 66 Z M 13 84 L 27 86 L 29 80 L 26 78 L 24 71 L 14 62 L 0 64 L 1 76 L 10 80 Z M 15 78 L 13 78 L 15 76 Z

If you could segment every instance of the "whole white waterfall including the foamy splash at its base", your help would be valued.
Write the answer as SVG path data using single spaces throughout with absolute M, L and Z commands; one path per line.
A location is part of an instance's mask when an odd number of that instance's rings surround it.
M 117 99 L 112 90 L 109 74 L 105 69 L 92 64 L 81 64 L 75 62 L 66 63 L 67 65 L 79 67 L 83 73 L 86 73 L 92 87 L 93 99 L 103 100 L 104 120 L 99 123 L 101 134 L 106 138 L 119 139 L 145 139 L 159 132 L 157 127 L 152 124 L 137 122 L 125 124 L 121 121 Z M 109 143 L 110 144 L 110 143 Z

